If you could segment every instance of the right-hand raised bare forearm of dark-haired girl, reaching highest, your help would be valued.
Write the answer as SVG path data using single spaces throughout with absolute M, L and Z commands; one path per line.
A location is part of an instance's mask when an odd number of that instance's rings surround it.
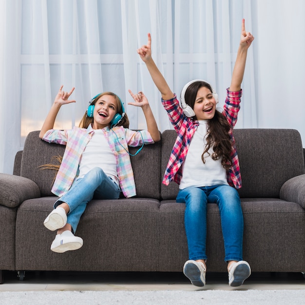
M 241 84 L 244 78 L 244 72 L 246 67 L 246 59 L 248 48 L 251 45 L 254 37 L 251 33 L 246 32 L 245 29 L 245 19 L 242 21 L 242 34 L 237 51 L 237 57 L 232 73 L 231 85 L 229 91 L 240 91 Z

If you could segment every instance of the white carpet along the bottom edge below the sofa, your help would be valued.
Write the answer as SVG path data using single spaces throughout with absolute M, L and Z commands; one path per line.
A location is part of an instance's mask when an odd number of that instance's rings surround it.
M 18 291 L 0 292 L 1 305 L 305 304 L 305 290 Z

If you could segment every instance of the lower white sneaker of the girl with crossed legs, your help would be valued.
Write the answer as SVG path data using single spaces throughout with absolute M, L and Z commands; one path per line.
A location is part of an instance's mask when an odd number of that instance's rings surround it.
M 83 245 L 83 240 L 80 237 L 66 230 L 61 234 L 57 234 L 51 245 L 51 250 L 57 253 L 63 253 L 70 250 L 77 250 Z

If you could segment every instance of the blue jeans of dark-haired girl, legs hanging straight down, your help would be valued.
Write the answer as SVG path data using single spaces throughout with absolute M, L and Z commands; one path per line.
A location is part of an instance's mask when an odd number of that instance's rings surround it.
M 207 203 L 219 208 L 222 234 L 225 244 L 225 261 L 241 261 L 243 258 L 244 218 L 238 192 L 228 186 L 189 187 L 180 190 L 177 202 L 185 203 L 185 230 L 189 259 L 207 259 Z

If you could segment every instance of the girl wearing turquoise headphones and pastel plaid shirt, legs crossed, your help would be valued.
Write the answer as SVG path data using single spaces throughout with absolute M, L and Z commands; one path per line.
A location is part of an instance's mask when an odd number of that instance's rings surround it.
M 72 130 L 53 129 L 60 107 L 75 102 L 60 87 L 39 137 L 49 143 L 66 145 L 52 192 L 60 198 L 47 216 L 44 226 L 57 235 L 51 245 L 54 252 L 76 250 L 83 240 L 74 235 L 80 216 L 91 199 L 117 199 L 136 195 L 128 146 L 152 144 L 160 133 L 146 96 L 133 94 L 133 106 L 141 107 L 147 131 L 128 129 L 129 120 L 121 99 L 112 92 L 96 95 L 79 127 Z M 139 152 L 140 150 L 138 150 Z M 48 167 L 46 167 L 48 168 Z

